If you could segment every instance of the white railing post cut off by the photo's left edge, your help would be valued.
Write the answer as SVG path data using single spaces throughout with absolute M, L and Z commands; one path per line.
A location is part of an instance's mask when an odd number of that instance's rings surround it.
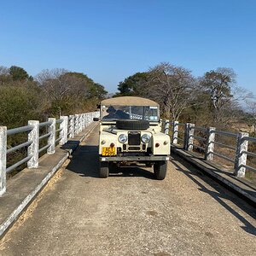
M 6 191 L 7 128 L 0 126 L 0 196 Z

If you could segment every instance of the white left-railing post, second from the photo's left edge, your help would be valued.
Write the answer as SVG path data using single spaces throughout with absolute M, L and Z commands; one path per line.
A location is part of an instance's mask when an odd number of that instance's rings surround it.
M 32 125 L 33 128 L 28 133 L 28 141 L 32 141 L 32 144 L 27 148 L 27 155 L 32 155 L 32 158 L 27 161 L 27 168 L 38 168 L 39 121 L 29 120 L 28 125 Z

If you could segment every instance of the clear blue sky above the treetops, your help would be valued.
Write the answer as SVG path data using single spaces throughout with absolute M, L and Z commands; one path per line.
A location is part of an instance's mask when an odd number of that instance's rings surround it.
M 161 61 L 195 76 L 232 67 L 256 94 L 254 0 L 0 0 L 0 66 L 63 67 L 117 84 Z

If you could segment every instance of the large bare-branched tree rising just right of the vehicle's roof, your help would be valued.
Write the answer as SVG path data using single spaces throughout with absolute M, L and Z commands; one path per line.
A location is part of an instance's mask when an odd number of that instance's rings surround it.
M 195 79 L 191 72 L 183 67 L 160 63 L 150 68 L 148 86 L 144 94 L 159 102 L 163 114 L 168 119 L 177 120 L 185 108 L 189 108 L 195 96 Z

